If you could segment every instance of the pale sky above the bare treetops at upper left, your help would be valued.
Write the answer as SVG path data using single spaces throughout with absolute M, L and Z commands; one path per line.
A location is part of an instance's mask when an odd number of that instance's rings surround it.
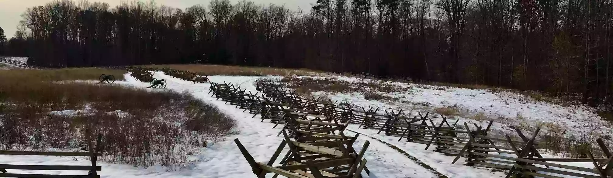
M 0 0 L 0 28 L 4 29 L 7 39 L 10 39 L 15 35 L 17 31 L 17 25 L 21 20 L 21 13 L 25 12 L 28 7 L 44 6 L 47 2 L 53 0 Z M 143 0 L 141 0 L 143 1 Z M 232 4 L 236 4 L 242 0 L 230 0 Z M 258 5 L 261 4 L 276 4 L 285 5 L 288 9 L 298 10 L 301 8 L 308 12 L 311 9 L 311 4 L 314 4 L 316 0 L 251 0 Z M 132 0 L 89 0 L 89 2 L 107 2 L 111 7 L 115 7 L 120 2 L 132 2 Z M 148 2 L 145 0 L 144 2 Z M 186 9 L 196 4 L 204 4 L 208 6 L 210 0 L 156 0 L 156 4 L 164 4 L 165 6 L 176 7 L 180 9 Z

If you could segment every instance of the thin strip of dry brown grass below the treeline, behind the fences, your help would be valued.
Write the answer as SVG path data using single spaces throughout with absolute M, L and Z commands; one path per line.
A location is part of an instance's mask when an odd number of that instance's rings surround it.
M 313 70 L 308 69 L 279 69 L 272 67 L 243 67 L 234 65 L 208 65 L 208 64 L 167 64 L 146 65 L 144 67 L 162 69 L 169 67 L 175 70 L 187 70 L 189 72 L 204 73 L 206 75 L 234 75 L 234 76 L 265 76 L 265 75 L 314 75 Z

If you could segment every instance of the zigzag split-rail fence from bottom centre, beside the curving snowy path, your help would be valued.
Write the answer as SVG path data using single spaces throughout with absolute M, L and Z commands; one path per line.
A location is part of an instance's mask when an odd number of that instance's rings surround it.
M 368 142 L 361 150 L 354 149 L 357 136 L 346 136 L 343 131 L 351 123 L 348 115 L 338 112 L 333 105 L 297 97 L 286 91 L 273 91 L 272 87 L 257 86 L 262 95 L 252 94 L 231 83 L 210 82 L 211 96 L 236 105 L 243 112 L 260 115 L 261 122 L 269 120 L 273 128 L 282 127 L 277 136 L 283 135 L 278 149 L 267 162 L 257 162 L 249 151 L 235 139 L 253 173 L 259 177 L 275 174 L 284 177 L 361 177 L 366 171 L 367 160 L 362 158 Z M 275 96 L 275 97 L 271 97 Z M 278 162 L 283 149 L 289 147 Z

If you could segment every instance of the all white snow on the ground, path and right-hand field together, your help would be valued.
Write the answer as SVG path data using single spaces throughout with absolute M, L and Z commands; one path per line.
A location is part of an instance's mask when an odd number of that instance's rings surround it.
M 276 76 L 270 76 L 276 77 Z M 360 81 L 357 78 L 340 76 L 339 80 Z M 124 86 L 144 88 L 148 83 L 137 81 L 135 78 L 126 74 L 126 81 L 116 81 L 115 84 Z M 194 155 L 188 157 L 189 162 L 181 166 L 178 171 L 166 172 L 161 166 L 150 168 L 135 168 L 129 165 L 119 165 L 113 163 L 99 163 L 102 171 L 101 177 L 256 177 L 251 172 L 251 168 L 243 158 L 234 143 L 234 139 L 240 139 L 256 161 L 268 161 L 276 147 L 282 140 L 276 134 L 280 132 L 280 127 L 272 128 L 273 124 L 267 121 L 260 122 L 261 119 L 252 118 L 252 114 L 242 113 L 243 109 L 237 109 L 234 105 L 225 105 L 224 102 L 216 100 L 208 94 L 208 83 L 191 83 L 179 80 L 172 76 L 164 75 L 162 72 L 155 72 L 154 78 L 167 81 L 167 88 L 173 91 L 185 91 L 198 97 L 205 102 L 212 103 L 218 108 L 234 117 L 237 120 L 237 128 L 234 135 L 227 136 L 223 141 L 213 143 L 203 147 Z M 255 81 L 257 76 L 209 76 L 210 80 L 216 83 L 232 83 L 240 85 L 242 89 L 256 93 Z M 509 92 L 492 93 L 488 90 L 462 89 L 453 87 L 443 87 L 438 90 L 433 87 L 419 86 L 416 84 L 393 83 L 403 87 L 410 87 L 409 92 L 394 92 L 394 95 L 407 100 L 407 102 L 380 102 L 365 100 L 359 93 L 328 94 L 333 100 L 348 100 L 359 106 L 375 106 L 382 109 L 403 109 L 417 111 L 411 103 L 429 103 L 431 107 L 460 106 L 469 111 L 483 112 L 492 116 L 501 115 L 517 117 L 518 114 L 525 117 L 528 122 L 555 122 L 573 132 L 580 132 L 582 128 L 590 127 L 602 133 L 611 133 L 607 123 L 601 121 L 600 117 L 592 114 L 587 107 L 582 106 L 558 106 L 550 103 L 530 101 L 527 98 L 520 98 L 517 94 Z M 438 87 L 436 87 L 438 88 Z M 159 90 L 159 89 L 150 89 Z M 78 114 L 79 111 L 64 111 L 54 114 Z M 407 112 L 408 113 L 408 112 Z M 467 121 L 469 119 L 466 119 Z M 471 121 L 477 122 L 477 121 Z M 590 124 L 591 123 L 591 124 Z M 494 125 L 499 130 L 507 130 L 504 124 Z M 451 165 L 454 157 L 434 152 L 433 149 L 425 150 L 424 144 L 405 143 L 397 141 L 398 138 L 385 135 L 376 135 L 376 130 L 360 129 L 357 125 L 349 125 L 345 132 L 347 135 L 360 133 L 359 139 L 354 146 L 362 149 L 365 141 L 370 142 L 365 158 L 368 160 L 367 167 L 371 171 L 370 177 L 504 177 L 505 172 L 493 171 L 487 168 L 478 168 L 463 165 L 464 158 L 460 158 L 458 163 Z M 392 147 L 394 146 L 394 147 Z M 544 155 L 544 157 L 553 157 Z M 279 161 L 279 160 L 278 160 Z M 277 161 L 277 163 L 278 163 Z M 89 160 L 74 157 L 45 157 L 45 156 L 21 156 L 21 155 L 0 155 L 0 164 L 18 165 L 89 165 Z M 591 163 L 577 163 L 576 166 L 593 168 Z M 79 171 L 28 171 L 28 170 L 9 170 L 12 173 L 37 173 L 37 174 L 86 174 Z M 364 173 L 363 173 L 364 174 Z M 272 174 L 269 174 L 272 177 Z

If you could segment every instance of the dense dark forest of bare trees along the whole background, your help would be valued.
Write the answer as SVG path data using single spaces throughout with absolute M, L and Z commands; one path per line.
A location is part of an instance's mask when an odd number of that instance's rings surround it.
M 315 1 L 315 0 L 313 0 Z M 175 9 L 62 0 L 1 51 L 42 67 L 204 63 L 367 72 L 611 103 L 613 0 L 211 0 Z

